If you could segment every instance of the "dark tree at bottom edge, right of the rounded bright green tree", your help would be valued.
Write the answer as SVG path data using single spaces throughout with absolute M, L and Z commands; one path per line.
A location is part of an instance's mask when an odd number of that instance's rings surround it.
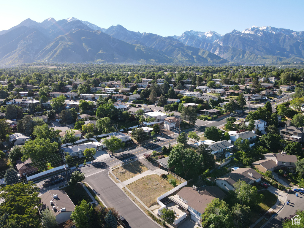
M 232 206 L 232 217 L 234 227 L 247 228 L 250 225 L 251 220 L 250 207 L 236 203 Z

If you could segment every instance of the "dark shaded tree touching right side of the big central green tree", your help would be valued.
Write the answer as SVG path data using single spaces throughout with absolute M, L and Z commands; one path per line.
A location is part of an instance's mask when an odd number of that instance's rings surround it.
M 214 155 L 212 154 L 213 151 L 209 145 L 201 143 L 196 152 L 200 156 L 199 163 L 201 165 L 201 171 L 205 171 L 215 166 Z

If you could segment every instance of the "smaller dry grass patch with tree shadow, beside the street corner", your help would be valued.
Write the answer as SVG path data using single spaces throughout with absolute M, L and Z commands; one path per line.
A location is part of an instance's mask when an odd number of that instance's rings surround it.
M 123 182 L 147 170 L 147 167 L 145 167 L 139 161 L 134 161 L 129 164 L 122 165 L 116 169 L 113 169 L 112 172 L 116 177 L 118 177 L 120 181 Z

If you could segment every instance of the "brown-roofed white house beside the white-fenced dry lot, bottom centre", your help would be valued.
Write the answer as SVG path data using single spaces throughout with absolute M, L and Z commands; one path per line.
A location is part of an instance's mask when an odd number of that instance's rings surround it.
M 213 199 L 223 199 L 226 194 L 216 186 L 207 186 L 196 191 L 192 187 L 182 188 L 176 195 L 169 196 L 173 202 L 190 212 L 190 218 L 196 223 L 202 223 L 201 215 Z

